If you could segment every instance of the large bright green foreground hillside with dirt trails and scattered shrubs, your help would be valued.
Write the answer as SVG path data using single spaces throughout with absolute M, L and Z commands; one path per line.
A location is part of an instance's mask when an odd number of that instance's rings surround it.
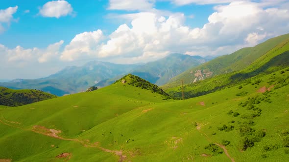
M 0 108 L 0 159 L 287 161 L 289 71 L 255 81 L 185 101 L 163 100 L 119 81 L 92 92 Z

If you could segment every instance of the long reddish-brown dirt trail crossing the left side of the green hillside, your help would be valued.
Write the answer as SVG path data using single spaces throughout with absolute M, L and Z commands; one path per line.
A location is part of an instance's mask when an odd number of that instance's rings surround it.
M 9 122 L 9 123 L 7 123 L 7 122 Z M 25 130 L 25 131 L 33 131 L 33 132 L 35 132 L 35 133 L 42 134 L 42 135 L 45 135 L 45 136 L 49 136 L 49 137 L 52 137 L 52 138 L 55 138 L 55 139 L 59 139 L 59 140 L 79 142 L 80 144 L 82 144 L 82 145 L 85 146 L 85 147 L 98 148 L 98 149 L 100 149 L 100 150 L 102 150 L 102 151 L 104 151 L 104 152 L 113 153 L 113 154 L 119 156 L 119 158 L 120 158 L 119 162 L 123 162 L 123 161 L 126 159 L 126 155 L 123 155 L 122 150 L 120 150 L 120 151 L 118 151 L 118 150 L 109 150 L 109 149 L 100 147 L 97 142 L 91 143 L 89 140 L 80 140 L 80 139 L 68 139 L 68 138 L 64 138 L 64 137 L 61 137 L 61 136 L 58 135 L 59 133 L 62 132 L 61 130 L 48 129 L 48 128 L 46 128 L 45 126 L 41 126 L 41 125 L 34 125 L 34 126 L 32 127 L 32 129 L 24 129 L 24 128 L 21 128 L 21 127 L 19 127 L 19 126 L 11 125 L 11 123 L 17 124 L 17 122 L 6 121 L 3 117 L 2 117 L 2 120 L 0 119 L 0 123 L 2 123 L 2 124 L 4 124 L 4 125 L 11 126 L 11 127 L 14 127 L 14 128 L 19 128 L 19 129 L 22 129 L 22 130 Z M 67 155 L 67 154 L 65 154 L 65 155 Z M 60 156 L 60 155 L 59 155 L 59 156 Z M 71 156 L 71 155 L 70 155 L 70 156 Z M 58 157 L 58 156 L 57 156 L 57 157 Z M 58 158 L 59 158 L 59 157 L 58 157 Z M 71 158 L 71 157 L 70 157 L 70 158 Z M 70 159 L 70 158 L 69 158 L 69 159 Z M 1 162 L 1 161 L 0 161 L 0 162 Z

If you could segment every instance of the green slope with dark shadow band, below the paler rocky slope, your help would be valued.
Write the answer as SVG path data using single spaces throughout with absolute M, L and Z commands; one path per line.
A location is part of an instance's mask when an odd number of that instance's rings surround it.
M 258 75 L 267 75 L 277 70 L 289 67 L 289 39 L 276 45 L 264 55 L 252 62 L 245 68 L 218 75 L 202 81 L 197 81 L 184 86 L 185 98 L 192 98 L 215 92 L 221 88 L 234 86 L 240 83 L 251 83 L 250 79 Z M 285 69 L 287 70 L 287 69 Z M 175 98 L 182 97 L 182 86 L 170 87 L 172 84 L 164 85 L 164 88 Z

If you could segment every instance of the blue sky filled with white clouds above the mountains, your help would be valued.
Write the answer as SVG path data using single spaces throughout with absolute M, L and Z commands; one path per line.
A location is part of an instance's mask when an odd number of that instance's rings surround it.
M 0 0 L 0 80 L 227 55 L 287 33 L 289 0 Z

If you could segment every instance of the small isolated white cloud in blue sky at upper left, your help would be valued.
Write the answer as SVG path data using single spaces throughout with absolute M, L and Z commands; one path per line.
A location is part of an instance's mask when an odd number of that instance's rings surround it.
M 48 1 L 39 9 L 39 14 L 43 17 L 60 18 L 72 14 L 73 8 L 71 4 L 65 0 Z

